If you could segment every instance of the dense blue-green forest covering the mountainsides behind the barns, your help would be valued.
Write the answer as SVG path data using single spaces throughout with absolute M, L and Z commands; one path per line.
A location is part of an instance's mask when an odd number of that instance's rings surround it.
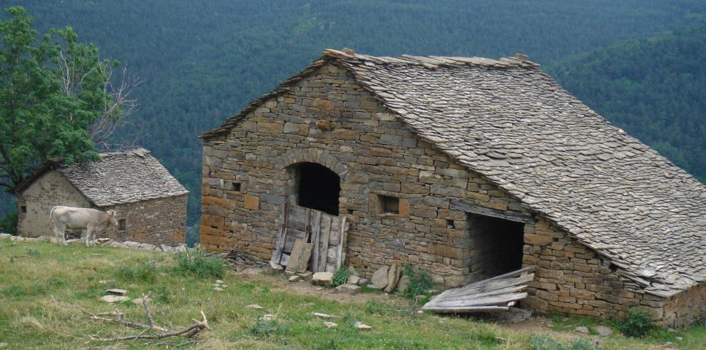
M 136 91 L 140 109 L 132 117 L 134 125 L 121 133 L 126 138 L 138 135 L 140 145 L 152 150 L 188 187 L 190 225 L 198 220 L 199 211 L 197 135 L 237 113 L 327 47 L 347 46 L 384 56 L 527 53 L 556 72 L 560 82 L 599 113 L 653 143 L 677 164 L 702 178 L 706 173 L 705 150 L 700 145 L 706 120 L 703 101 L 677 100 L 669 94 L 682 88 L 678 84 L 700 80 L 701 85 L 684 89 L 704 96 L 703 73 L 660 81 L 658 77 L 672 74 L 670 66 L 645 73 L 653 77 L 646 80 L 630 76 L 636 67 L 653 68 L 652 55 L 660 53 L 671 55 L 675 63 L 698 61 L 678 56 L 693 50 L 672 53 L 657 41 L 696 35 L 678 28 L 703 21 L 706 1 L 702 0 L 18 0 L 3 4 L 26 7 L 40 31 L 73 26 L 82 41 L 96 43 L 103 56 L 118 59 L 145 81 Z M 674 34 L 662 35 L 666 31 Z M 653 36 L 661 39 L 639 41 Z M 625 48 L 626 41 L 634 48 Z M 605 47 L 610 48 L 601 49 Z M 631 51 L 638 49 L 645 53 Z M 684 69 L 692 66 L 689 63 Z M 623 68 L 626 72 L 620 71 Z M 605 78 L 590 78 L 605 73 Z M 623 75 L 628 78 L 621 80 Z M 664 81 L 673 85 L 653 85 Z M 621 100 L 625 91 L 607 91 L 608 86 L 601 85 L 606 83 L 627 89 L 629 102 Z M 642 91 L 651 94 L 640 95 Z M 673 103 L 656 113 L 650 106 L 664 105 L 662 99 Z M 692 124 L 667 123 L 680 110 L 690 111 L 687 119 Z M 653 124 L 660 126 L 653 128 Z M 665 125 L 673 126 L 668 129 L 669 138 L 662 135 Z M 700 125 L 700 133 L 689 125 Z M 695 150 L 701 154 L 690 155 Z M 0 212 L 6 211 L 9 200 L 1 202 Z

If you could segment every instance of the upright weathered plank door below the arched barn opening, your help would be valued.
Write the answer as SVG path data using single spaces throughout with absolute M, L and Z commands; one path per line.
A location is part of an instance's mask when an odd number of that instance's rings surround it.
M 280 230 L 272 252 L 272 262 L 287 266 L 287 271 L 300 268 L 295 252 L 297 241 L 311 245 L 307 264 L 312 272 L 334 272 L 346 259 L 348 222 L 345 216 L 329 215 L 285 202 L 280 215 Z M 291 269 L 289 264 L 296 264 Z M 305 267 L 306 269 L 307 267 Z

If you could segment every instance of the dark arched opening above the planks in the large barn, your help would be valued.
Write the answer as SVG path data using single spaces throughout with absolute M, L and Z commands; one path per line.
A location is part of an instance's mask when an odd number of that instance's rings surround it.
M 317 163 L 301 163 L 297 165 L 297 173 L 297 205 L 338 215 L 341 178 L 329 168 Z

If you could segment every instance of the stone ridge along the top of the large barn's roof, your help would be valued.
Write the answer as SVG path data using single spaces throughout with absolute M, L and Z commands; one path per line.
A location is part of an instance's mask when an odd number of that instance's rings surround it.
M 409 66 L 424 66 L 429 69 L 439 67 L 462 67 L 462 66 L 486 66 L 492 68 L 539 68 L 538 63 L 529 61 L 527 56 L 516 53 L 512 57 L 501 57 L 498 59 L 484 57 L 456 57 L 456 56 L 413 56 L 403 54 L 400 57 L 369 56 L 355 53 L 349 48 L 342 51 L 333 48 L 324 49 L 323 56 L 341 59 L 344 61 L 359 61 L 360 63 L 375 64 L 406 64 Z

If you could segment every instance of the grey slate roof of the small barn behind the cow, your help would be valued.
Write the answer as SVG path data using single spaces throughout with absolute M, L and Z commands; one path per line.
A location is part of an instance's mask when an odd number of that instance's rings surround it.
M 150 151 L 101 153 L 101 161 L 56 168 L 100 207 L 188 193 Z

